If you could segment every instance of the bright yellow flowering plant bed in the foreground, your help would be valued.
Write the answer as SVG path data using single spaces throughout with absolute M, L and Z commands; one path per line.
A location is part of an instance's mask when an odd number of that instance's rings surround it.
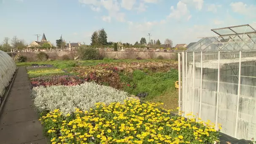
M 59 109 L 40 118 L 52 144 L 213 144 L 219 132 L 209 122 L 171 116 L 160 103 L 139 100 L 97 103 L 64 116 Z

